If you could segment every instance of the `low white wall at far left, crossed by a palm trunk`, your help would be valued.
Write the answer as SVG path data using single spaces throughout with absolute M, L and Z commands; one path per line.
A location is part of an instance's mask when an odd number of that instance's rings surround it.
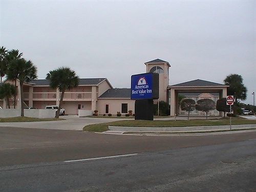
M 19 117 L 20 109 L 0 109 L 0 118 Z M 25 109 L 24 116 L 34 118 L 54 118 L 55 110 Z

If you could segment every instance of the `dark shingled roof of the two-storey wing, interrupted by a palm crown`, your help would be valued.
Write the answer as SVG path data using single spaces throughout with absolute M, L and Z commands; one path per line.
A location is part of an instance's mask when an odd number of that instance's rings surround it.
M 106 78 L 90 78 L 90 79 L 79 79 L 79 86 L 95 86 Z M 36 86 L 49 86 L 50 82 L 47 79 L 36 79 L 30 81 L 30 83 L 36 84 Z

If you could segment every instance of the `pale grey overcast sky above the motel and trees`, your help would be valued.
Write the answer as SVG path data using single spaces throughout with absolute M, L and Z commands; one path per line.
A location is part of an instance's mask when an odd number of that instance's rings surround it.
M 256 92 L 256 1 L 0 0 L 0 46 L 24 53 L 39 79 L 64 66 L 130 88 L 160 58 L 170 85 L 239 74 L 243 102 Z

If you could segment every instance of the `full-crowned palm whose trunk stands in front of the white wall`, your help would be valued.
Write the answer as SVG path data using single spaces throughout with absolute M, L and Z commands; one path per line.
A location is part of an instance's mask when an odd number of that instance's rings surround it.
M 20 116 L 24 117 L 24 93 L 23 93 L 23 83 L 30 82 L 37 78 L 37 69 L 30 60 L 17 59 L 15 62 L 11 62 L 8 68 L 9 73 L 7 78 L 9 79 L 11 74 L 10 71 L 15 71 L 16 79 L 19 80 L 20 85 L 20 102 L 22 104 L 22 110 Z

